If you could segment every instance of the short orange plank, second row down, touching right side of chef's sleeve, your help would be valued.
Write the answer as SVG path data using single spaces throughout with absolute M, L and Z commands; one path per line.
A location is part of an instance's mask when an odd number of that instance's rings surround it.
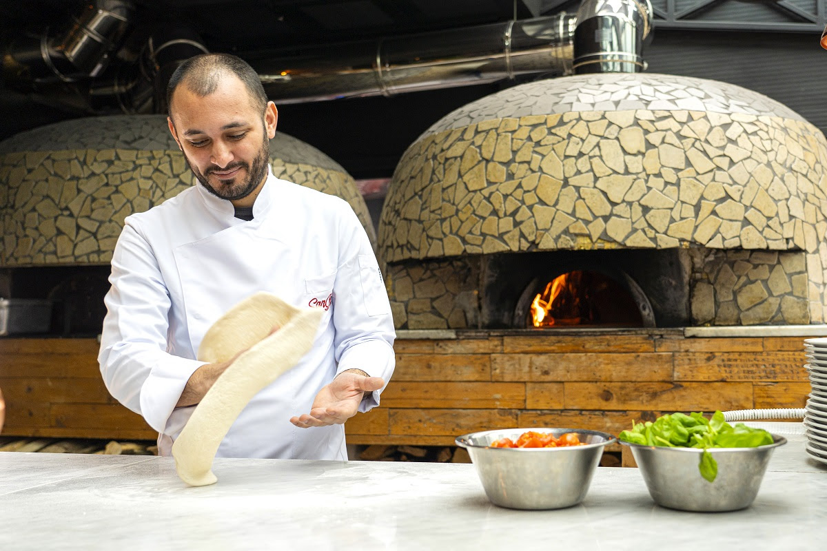
M 489 354 L 397 354 L 394 381 L 490 381 Z

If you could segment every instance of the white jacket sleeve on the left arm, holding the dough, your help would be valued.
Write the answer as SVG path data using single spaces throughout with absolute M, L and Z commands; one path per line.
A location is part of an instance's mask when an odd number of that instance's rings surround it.
M 167 352 L 170 295 L 152 248 L 127 220 L 112 255 L 104 302 L 103 382 L 113 397 L 164 432 L 190 375 L 204 362 Z

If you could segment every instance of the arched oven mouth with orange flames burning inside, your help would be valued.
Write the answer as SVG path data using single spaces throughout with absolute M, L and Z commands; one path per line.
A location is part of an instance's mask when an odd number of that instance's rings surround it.
M 528 309 L 527 327 L 643 327 L 637 302 L 604 273 L 574 270 L 553 278 Z

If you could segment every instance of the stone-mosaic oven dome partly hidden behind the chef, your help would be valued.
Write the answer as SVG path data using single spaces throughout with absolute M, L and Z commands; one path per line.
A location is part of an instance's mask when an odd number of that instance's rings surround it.
M 270 150 L 276 177 L 342 197 L 375 241 L 341 166 L 283 134 Z M 106 264 L 127 216 L 192 185 L 164 116 L 66 121 L 14 136 L 0 144 L 0 266 Z

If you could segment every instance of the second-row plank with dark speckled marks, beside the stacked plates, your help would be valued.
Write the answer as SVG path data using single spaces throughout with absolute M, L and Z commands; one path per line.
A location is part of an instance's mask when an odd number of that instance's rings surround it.
M 804 352 L 675 354 L 675 381 L 806 381 Z

